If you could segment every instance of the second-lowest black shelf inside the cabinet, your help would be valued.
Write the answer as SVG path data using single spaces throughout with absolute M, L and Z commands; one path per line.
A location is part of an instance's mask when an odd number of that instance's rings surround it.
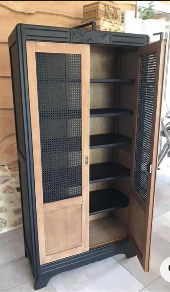
M 129 177 L 130 170 L 118 162 L 90 164 L 90 183 Z

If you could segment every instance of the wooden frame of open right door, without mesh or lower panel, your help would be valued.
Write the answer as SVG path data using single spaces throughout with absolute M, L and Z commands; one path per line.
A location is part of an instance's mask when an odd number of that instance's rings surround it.
M 152 173 L 148 176 L 148 191 L 146 204 L 138 196 L 136 190 L 133 187 L 134 182 L 134 168 L 135 168 L 135 151 L 136 151 L 136 132 L 133 136 L 132 145 L 132 157 L 133 157 L 133 171 L 131 174 L 131 198 L 130 198 L 130 215 L 133 214 L 133 200 L 136 200 L 139 206 L 145 213 L 144 223 L 144 246 L 143 252 L 139 250 L 136 242 L 131 234 L 132 218 L 129 220 L 129 237 L 133 243 L 136 254 L 143 266 L 144 271 L 149 270 L 149 257 L 150 257 L 150 245 L 151 245 L 151 233 L 152 233 L 152 218 L 153 218 L 153 206 L 155 197 L 155 182 L 157 172 L 157 161 L 158 161 L 158 148 L 159 148 L 159 129 L 160 129 L 160 118 L 161 118 L 161 105 L 162 105 L 162 88 L 163 88 L 163 73 L 164 73 L 164 59 L 165 59 L 165 45 L 166 41 L 158 41 L 138 49 L 138 76 L 136 80 L 136 112 L 135 112 L 135 129 L 137 128 L 137 116 L 138 116 L 138 96 L 139 96 L 139 81 L 140 81 L 140 57 L 156 53 L 156 59 L 159 60 L 156 63 L 155 72 L 155 88 L 154 88 L 154 100 L 153 103 L 153 118 L 152 118 L 152 133 L 151 133 L 151 151 L 150 151 L 150 162 L 152 163 Z M 132 216 L 132 215 L 131 215 Z M 146 240 L 145 240 L 146 238 Z

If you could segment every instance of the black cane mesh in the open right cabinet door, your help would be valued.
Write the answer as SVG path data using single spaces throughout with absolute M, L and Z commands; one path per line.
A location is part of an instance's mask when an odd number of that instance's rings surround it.
M 140 58 L 139 103 L 133 186 L 144 203 L 147 200 L 155 70 L 156 53 Z

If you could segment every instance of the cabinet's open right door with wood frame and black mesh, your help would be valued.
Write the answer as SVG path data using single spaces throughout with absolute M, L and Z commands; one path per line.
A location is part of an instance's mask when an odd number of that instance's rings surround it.
M 144 271 L 149 270 L 152 217 L 157 172 L 165 40 L 138 50 L 136 130 L 129 237 Z

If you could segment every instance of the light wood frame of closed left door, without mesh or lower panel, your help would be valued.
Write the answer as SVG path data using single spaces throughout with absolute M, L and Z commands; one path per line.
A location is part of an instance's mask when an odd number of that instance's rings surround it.
M 89 157 L 89 54 L 88 44 L 69 44 L 26 41 L 27 72 L 30 102 L 30 120 L 34 160 L 34 180 L 37 209 L 38 244 L 40 264 L 46 264 L 61 258 L 76 255 L 89 249 L 89 164 L 85 164 L 85 157 Z M 38 93 L 36 74 L 36 52 L 81 54 L 82 81 L 82 196 L 43 204 L 43 184 L 41 169 L 40 125 L 38 114 Z M 58 203 L 57 203 L 58 202 Z M 46 255 L 44 212 L 54 209 L 54 206 L 82 204 L 82 246 L 53 255 Z M 45 206 L 44 206 L 45 205 Z M 47 206 L 48 205 L 48 206 Z

